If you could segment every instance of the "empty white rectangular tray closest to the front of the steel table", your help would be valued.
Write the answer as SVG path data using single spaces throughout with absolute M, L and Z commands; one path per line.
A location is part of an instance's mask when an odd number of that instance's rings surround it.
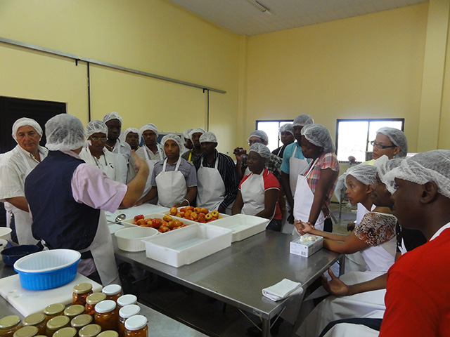
M 195 223 L 143 242 L 148 258 L 181 267 L 231 246 L 231 234 L 226 228 Z

